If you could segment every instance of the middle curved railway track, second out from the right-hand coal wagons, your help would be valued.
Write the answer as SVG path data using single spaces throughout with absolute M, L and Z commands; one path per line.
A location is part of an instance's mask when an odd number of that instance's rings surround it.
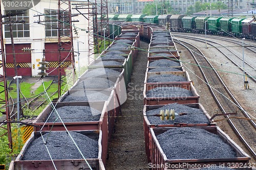
M 182 37 L 182 38 L 187 38 L 187 39 L 195 39 L 195 38 L 190 37 L 190 36 L 182 36 L 182 35 L 176 35 L 176 37 Z M 205 42 L 205 39 L 197 37 L 197 41 Z M 256 67 L 254 67 L 248 61 L 244 61 L 245 65 L 243 67 L 242 66 L 243 65 L 243 58 L 238 56 L 236 53 L 232 52 L 232 50 L 230 50 L 228 47 L 222 45 L 221 43 L 211 41 L 211 40 L 207 40 L 207 42 L 208 42 L 208 45 L 216 47 L 216 49 L 220 53 L 222 53 L 229 61 L 231 61 L 235 66 L 237 66 L 242 71 L 241 75 L 243 74 L 243 71 L 245 70 L 245 74 L 248 75 L 248 78 L 250 78 L 253 82 L 256 83 L 256 77 L 255 77 Z M 217 45 L 214 45 L 214 44 L 217 44 Z M 253 53 L 256 53 L 256 51 L 253 51 Z M 231 56 L 231 57 L 229 57 L 229 56 Z M 252 62 L 252 61 L 250 61 L 250 62 Z

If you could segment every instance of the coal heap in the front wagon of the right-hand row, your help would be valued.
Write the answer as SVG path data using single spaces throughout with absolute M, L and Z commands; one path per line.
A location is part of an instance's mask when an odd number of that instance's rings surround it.
M 174 128 L 157 136 L 167 159 L 236 158 L 218 135 L 199 128 Z

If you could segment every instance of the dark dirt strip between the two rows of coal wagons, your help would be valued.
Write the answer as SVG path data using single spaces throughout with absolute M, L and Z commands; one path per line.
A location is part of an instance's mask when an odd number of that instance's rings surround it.
M 141 41 L 141 48 L 148 43 Z M 147 52 L 140 51 L 127 87 L 127 100 L 117 118 L 116 131 L 109 144 L 106 169 L 148 169 L 143 130 L 143 85 Z

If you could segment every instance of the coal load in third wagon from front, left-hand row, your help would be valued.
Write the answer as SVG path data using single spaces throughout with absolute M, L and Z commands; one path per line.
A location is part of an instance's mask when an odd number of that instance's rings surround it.
M 94 90 L 79 90 L 66 95 L 61 102 L 87 102 L 87 101 L 106 101 L 108 95 Z

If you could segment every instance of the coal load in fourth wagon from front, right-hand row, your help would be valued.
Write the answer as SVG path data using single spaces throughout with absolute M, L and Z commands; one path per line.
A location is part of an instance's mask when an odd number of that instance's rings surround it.
M 187 78 L 177 75 L 157 75 L 152 76 L 147 79 L 147 83 L 153 83 L 153 82 L 185 82 L 187 81 Z

